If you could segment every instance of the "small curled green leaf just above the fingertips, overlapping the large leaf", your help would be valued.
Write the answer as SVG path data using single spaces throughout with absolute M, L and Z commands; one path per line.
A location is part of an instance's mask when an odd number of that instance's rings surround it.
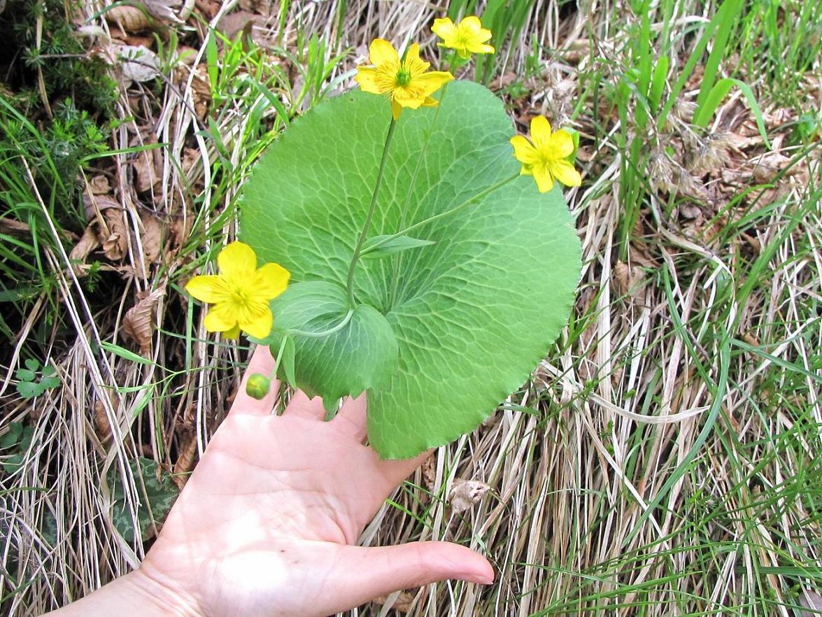
M 279 352 L 286 333 L 293 338 L 294 385 L 309 397 L 321 396 L 326 403 L 356 397 L 394 375 L 398 348 L 391 326 L 372 306 L 361 304 L 348 315 L 349 299 L 339 285 L 297 283 L 271 302 L 271 311 L 271 353 Z M 314 336 L 330 329 L 336 330 Z

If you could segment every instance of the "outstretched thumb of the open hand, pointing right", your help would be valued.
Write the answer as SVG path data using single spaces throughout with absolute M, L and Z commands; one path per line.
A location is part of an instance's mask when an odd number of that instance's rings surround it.
M 346 546 L 342 571 L 354 574 L 348 582 L 352 605 L 399 589 L 420 587 L 446 578 L 483 585 L 494 580 L 494 569 L 482 555 L 451 542 L 409 542 L 366 548 Z

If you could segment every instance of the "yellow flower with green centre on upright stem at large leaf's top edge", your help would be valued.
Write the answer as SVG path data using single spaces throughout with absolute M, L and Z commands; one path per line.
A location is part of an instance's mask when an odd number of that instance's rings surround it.
M 400 60 L 399 53 L 384 39 L 374 39 L 368 48 L 373 67 L 358 67 L 354 78 L 365 92 L 388 94 L 391 113 L 399 119 L 404 107 L 418 109 L 437 104 L 431 95 L 454 79 L 445 71 L 428 71 L 429 62 L 419 59 L 419 45 L 414 43 Z M 426 72 L 427 71 L 427 72 Z

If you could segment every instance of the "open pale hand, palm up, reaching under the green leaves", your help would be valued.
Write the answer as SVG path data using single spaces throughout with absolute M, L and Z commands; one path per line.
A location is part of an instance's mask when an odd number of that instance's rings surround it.
M 331 421 L 300 392 L 272 415 L 276 387 L 258 401 L 245 381 L 273 366 L 257 348 L 141 567 L 48 615 L 320 617 L 446 578 L 492 582 L 487 559 L 450 542 L 354 546 L 428 453 L 382 461 L 363 445 L 364 395 Z

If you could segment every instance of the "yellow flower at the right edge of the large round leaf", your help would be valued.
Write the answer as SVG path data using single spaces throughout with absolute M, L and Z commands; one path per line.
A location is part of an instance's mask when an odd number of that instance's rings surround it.
M 551 132 L 551 124 L 537 116 L 531 120 L 531 140 L 524 136 L 511 137 L 514 156 L 522 163 L 520 173 L 533 176 L 539 192 L 550 191 L 554 180 L 566 186 L 580 186 L 582 176 L 570 163 L 574 154 L 574 139 L 565 129 Z

